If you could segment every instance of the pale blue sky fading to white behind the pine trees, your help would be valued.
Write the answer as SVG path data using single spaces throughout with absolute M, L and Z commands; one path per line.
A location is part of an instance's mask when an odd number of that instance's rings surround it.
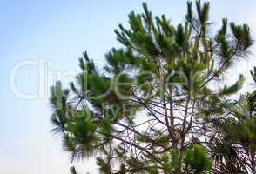
M 68 174 L 69 154 L 51 134 L 49 86 L 68 83 L 77 58 L 88 51 L 99 65 L 119 47 L 113 32 L 127 22 L 141 0 L 0 0 L 0 173 Z M 146 1 L 154 15 L 184 21 L 185 0 Z M 256 36 L 256 0 L 212 0 L 210 19 L 248 23 Z M 256 53 L 253 47 L 252 52 Z M 255 56 L 239 63 L 231 77 L 256 66 Z M 246 75 L 249 77 L 248 73 Z M 232 79 L 232 78 L 231 78 Z M 246 90 L 250 88 L 246 84 Z M 98 173 L 94 160 L 75 163 L 79 173 Z

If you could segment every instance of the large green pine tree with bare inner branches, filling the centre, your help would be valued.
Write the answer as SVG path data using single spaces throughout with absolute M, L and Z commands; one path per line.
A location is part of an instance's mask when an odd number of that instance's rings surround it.
M 123 47 L 105 55 L 104 70 L 84 52 L 70 89 L 51 87 L 53 131 L 71 160 L 97 157 L 100 173 L 218 173 L 209 144 L 219 143 L 215 123 L 231 114 L 229 97 L 244 83 L 240 75 L 224 85 L 226 71 L 250 53 L 249 27 L 223 19 L 212 37 L 210 5 L 200 1 L 195 10 L 187 3 L 177 26 L 143 9 L 115 30 Z

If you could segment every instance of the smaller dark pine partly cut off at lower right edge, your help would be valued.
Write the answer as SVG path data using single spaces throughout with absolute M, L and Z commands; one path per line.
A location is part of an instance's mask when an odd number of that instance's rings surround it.
M 251 71 L 256 83 L 256 68 Z M 216 159 L 215 170 L 224 173 L 256 173 L 256 90 L 246 92 L 233 103 L 224 119 L 212 120 L 214 137 L 209 146 Z M 217 136 L 218 135 L 218 136 Z

